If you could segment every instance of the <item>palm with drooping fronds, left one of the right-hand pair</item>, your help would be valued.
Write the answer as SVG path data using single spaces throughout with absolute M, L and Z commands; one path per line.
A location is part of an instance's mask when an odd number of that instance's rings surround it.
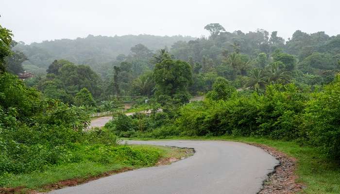
M 247 80 L 246 87 L 256 90 L 257 94 L 259 94 L 258 89 L 263 88 L 266 85 L 267 78 L 261 69 L 256 68 L 250 71 L 250 75 L 247 76 Z

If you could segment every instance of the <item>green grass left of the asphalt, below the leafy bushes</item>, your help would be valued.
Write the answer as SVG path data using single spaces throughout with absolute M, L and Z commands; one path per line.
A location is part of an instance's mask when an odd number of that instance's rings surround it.
M 117 146 L 116 146 L 117 147 Z M 126 146 L 118 146 L 126 147 Z M 2 187 L 25 187 L 44 191 L 44 187 L 51 183 L 71 178 L 90 178 L 101 175 L 105 172 L 116 171 L 123 168 L 140 168 L 153 166 L 158 160 L 164 158 L 181 158 L 186 156 L 186 150 L 164 146 L 131 145 L 127 146 L 133 150 L 119 152 L 115 162 L 76 162 L 49 166 L 43 172 L 31 172 L 27 174 L 5 174 L 0 176 L 0 186 Z M 125 150 L 123 150 L 125 151 Z M 87 153 L 88 157 L 100 157 L 97 153 Z M 106 153 L 105 153 L 106 154 Z M 128 159 L 128 160 L 127 160 Z

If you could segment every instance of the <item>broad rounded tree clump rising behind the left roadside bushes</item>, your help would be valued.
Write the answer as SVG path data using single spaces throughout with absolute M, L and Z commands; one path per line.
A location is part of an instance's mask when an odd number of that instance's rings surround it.
M 49 74 L 46 78 L 38 83 L 39 89 L 46 97 L 60 99 L 78 106 L 82 104 L 95 106 L 92 95 L 99 97 L 102 94 L 102 81 L 89 66 L 74 65 L 66 60 L 55 60 L 47 72 Z M 86 88 L 90 93 L 91 97 L 87 97 L 87 100 L 83 99 L 85 97 L 83 88 Z

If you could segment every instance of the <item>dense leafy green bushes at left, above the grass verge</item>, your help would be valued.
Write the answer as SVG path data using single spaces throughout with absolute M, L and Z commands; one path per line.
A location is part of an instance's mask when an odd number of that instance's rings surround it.
M 66 163 L 89 117 L 83 107 L 45 99 L 16 76 L 0 75 L 0 174 Z

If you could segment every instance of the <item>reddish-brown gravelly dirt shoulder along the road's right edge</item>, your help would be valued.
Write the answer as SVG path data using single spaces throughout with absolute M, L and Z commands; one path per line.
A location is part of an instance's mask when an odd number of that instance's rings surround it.
M 263 189 L 257 194 L 295 194 L 301 191 L 303 185 L 296 183 L 296 159 L 275 148 L 260 144 L 249 144 L 262 148 L 280 162 L 263 183 Z

